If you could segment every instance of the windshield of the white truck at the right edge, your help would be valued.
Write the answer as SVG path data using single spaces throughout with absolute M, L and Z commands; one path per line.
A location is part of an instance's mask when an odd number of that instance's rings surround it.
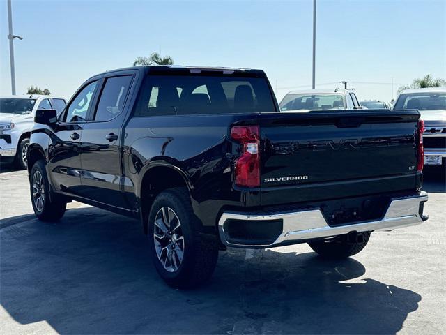
M 446 92 L 401 94 L 395 110 L 446 110 Z

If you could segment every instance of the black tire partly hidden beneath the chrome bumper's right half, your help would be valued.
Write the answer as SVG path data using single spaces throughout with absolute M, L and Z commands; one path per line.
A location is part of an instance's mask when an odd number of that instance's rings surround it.
M 369 242 L 370 234 L 371 232 L 363 232 L 362 241 L 360 242 L 348 241 L 348 234 L 346 234 L 334 239 L 309 242 L 308 245 L 323 258 L 339 260 L 356 255 L 362 251 L 367 246 L 367 242 Z

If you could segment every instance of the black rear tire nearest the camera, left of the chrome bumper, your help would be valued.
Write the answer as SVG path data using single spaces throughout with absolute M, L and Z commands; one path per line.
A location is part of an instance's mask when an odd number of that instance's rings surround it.
M 173 217 L 171 222 L 169 219 L 167 220 L 169 221 L 169 226 L 173 227 L 175 225 L 177 227 L 170 234 L 160 230 L 159 219 L 155 228 L 155 218 L 161 218 L 163 208 L 171 209 L 176 216 L 175 218 L 169 211 L 168 216 Z M 177 219 L 180 223 L 179 225 L 176 223 Z M 206 238 L 199 234 L 200 225 L 199 219 L 192 210 L 192 204 L 186 188 L 169 188 L 155 198 L 148 216 L 148 241 L 151 258 L 161 278 L 174 288 L 196 287 L 208 281 L 213 274 L 218 258 L 217 239 Z M 164 225 L 164 228 L 166 227 L 167 225 Z M 157 230 L 157 237 L 155 237 L 155 229 Z M 168 229 L 170 230 L 171 228 Z M 171 245 L 176 242 L 174 235 L 177 236 L 176 246 Z M 180 260 L 181 236 L 183 237 L 183 255 Z M 162 247 L 162 241 L 165 244 L 169 244 Z M 168 251 L 165 251 L 166 248 Z M 168 270 L 167 257 L 170 248 L 174 248 L 174 251 L 171 251 L 171 260 L 169 260 L 171 267 Z M 165 255 L 164 265 L 163 255 Z M 177 265 L 178 267 L 176 267 Z

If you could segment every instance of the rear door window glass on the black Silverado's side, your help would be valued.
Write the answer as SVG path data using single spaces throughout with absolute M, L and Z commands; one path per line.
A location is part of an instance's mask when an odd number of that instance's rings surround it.
M 95 121 L 108 121 L 123 112 L 131 82 L 131 75 L 107 78 L 99 98 Z

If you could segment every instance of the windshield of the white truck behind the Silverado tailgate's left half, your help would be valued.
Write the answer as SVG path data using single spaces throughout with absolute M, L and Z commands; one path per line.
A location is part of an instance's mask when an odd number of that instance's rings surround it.
M 346 108 L 341 94 L 287 94 L 280 110 L 343 110 Z

